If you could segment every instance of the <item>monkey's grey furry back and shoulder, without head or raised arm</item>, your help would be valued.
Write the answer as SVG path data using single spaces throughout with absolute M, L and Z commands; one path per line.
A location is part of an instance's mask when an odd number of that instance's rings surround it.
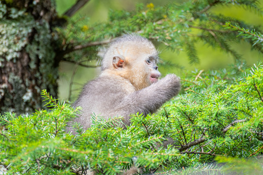
M 118 111 L 115 107 L 120 105 L 125 96 L 134 91 L 135 88 L 128 80 L 114 74 L 102 74 L 83 87 L 79 98 L 73 104 L 73 107 L 81 106 L 82 110 L 80 116 L 72 122 L 80 123 L 84 129 L 87 129 L 91 125 L 90 116 L 93 113 L 105 118 L 117 116 Z

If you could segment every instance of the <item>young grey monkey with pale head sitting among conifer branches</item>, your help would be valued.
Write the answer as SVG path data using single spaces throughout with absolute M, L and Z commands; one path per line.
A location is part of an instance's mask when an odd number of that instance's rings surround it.
M 82 110 L 72 122 L 87 129 L 95 114 L 123 116 L 123 123 L 129 125 L 131 114 L 157 111 L 180 90 L 180 79 L 174 74 L 159 79 L 157 62 L 158 51 L 148 39 L 139 35 L 115 39 L 104 55 L 101 74 L 84 86 L 73 104 Z

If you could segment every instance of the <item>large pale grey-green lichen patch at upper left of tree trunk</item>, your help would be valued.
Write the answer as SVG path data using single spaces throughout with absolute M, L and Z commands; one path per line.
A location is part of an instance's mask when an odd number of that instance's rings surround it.
M 7 14 L 6 6 L 1 2 L 0 17 L 0 57 L 16 62 L 18 51 L 28 44 L 27 36 L 32 32 L 34 20 L 29 14 L 15 8 L 10 8 Z

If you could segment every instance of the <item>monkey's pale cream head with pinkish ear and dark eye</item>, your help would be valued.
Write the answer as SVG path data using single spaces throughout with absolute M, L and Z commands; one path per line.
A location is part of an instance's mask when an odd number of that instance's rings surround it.
M 107 50 L 102 70 L 129 80 L 136 90 L 158 81 L 158 51 L 151 41 L 136 35 L 117 39 Z

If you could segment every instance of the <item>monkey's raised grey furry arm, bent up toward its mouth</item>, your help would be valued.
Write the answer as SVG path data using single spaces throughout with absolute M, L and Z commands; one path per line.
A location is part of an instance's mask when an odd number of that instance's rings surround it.
M 174 74 L 168 74 L 157 83 L 124 97 L 116 111 L 124 117 L 137 112 L 144 114 L 153 113 L 161 105 L 177 95 L 179 90 L 180 79 Z

